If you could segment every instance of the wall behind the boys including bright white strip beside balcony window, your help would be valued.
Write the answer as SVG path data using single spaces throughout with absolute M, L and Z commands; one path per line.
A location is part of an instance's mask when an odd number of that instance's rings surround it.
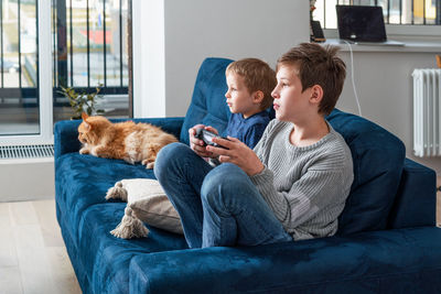
M 309 41 L 308 11 L 308 1 L 292 0 L 135 0 L 136 117 L 184 116 L 206 57 L 275 66 Z

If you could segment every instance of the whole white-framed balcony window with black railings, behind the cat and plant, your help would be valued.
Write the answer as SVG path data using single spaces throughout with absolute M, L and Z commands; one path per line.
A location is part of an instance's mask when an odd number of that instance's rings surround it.
M 52 143 L 69 119 L 60 86 L 95 91 L 107 117 L 131 116 L 131 0 L 0 0 L 0 145 Z

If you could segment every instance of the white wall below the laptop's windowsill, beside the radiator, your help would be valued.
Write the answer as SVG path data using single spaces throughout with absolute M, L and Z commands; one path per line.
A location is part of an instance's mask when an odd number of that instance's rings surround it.
M 344 47 L 344 45 L 342 45 Z M 354 77 L 363 116 L 397 135 L 406 145 L 407 156 L 441 173 L 441 159 L 421 159 L 412 154 L 413 146 L 413 85 L 415 68 L 433 68 L 433 53 L 418 52 L 355 52 Z M 441 51 L 441 47 L 440 47 Z M 351 80 L 351 58 L 347 78 L 337 107 L 358 113 Z

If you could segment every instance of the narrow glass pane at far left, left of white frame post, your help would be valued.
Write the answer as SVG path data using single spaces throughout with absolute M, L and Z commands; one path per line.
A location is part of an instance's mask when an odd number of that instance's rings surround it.
M 0 2 L 1 135 L 40 132 L 36 2 Z

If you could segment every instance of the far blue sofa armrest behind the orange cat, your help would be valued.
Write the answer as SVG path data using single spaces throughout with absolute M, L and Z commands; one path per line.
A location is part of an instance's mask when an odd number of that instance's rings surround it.
M 112 122 L 132 120 L 135 122 L 146 122 L 161 127 L 165 132 L 180 138 L 184 118 L 139 118 L 139 119 L 111 119 Z M 63 120 L 55 123 L 54 128 L 54 151 L 55 159 L 65 153 L 78 152 L 80 143 L 78 141 L 78 126 L 82 120 Z

